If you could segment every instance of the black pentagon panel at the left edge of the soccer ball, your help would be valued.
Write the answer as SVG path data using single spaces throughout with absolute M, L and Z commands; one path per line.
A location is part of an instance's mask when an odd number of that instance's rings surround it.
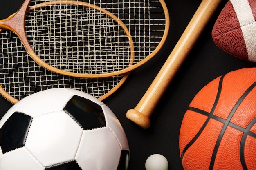
M 19 112 L 13 113 L 7 119 L 0 129 L 0 145 L 3 153 L 25 145 L 31 121 L 32 117 Z

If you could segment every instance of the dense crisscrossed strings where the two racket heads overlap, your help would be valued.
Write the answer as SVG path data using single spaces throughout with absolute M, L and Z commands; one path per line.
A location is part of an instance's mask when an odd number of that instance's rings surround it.
M 87 74 L 129 66 L 130 42 L 106 13 L 81 5 L 51 5 L 29 11 L 26 23 L 35 53 L 51 66 Z

